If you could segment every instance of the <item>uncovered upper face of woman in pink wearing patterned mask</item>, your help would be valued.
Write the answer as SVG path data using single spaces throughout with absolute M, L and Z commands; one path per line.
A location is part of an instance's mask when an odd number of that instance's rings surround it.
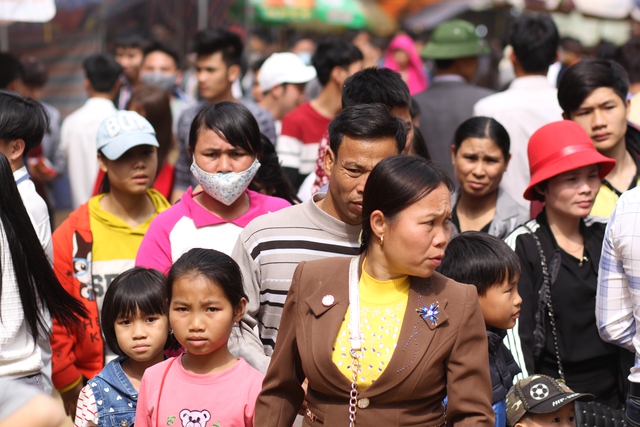
M 234 147 L 211 129 L 201 129 L 193 153 L 200 169 L 209 173 L 243 172 L 255 156 L 242 147 Z

